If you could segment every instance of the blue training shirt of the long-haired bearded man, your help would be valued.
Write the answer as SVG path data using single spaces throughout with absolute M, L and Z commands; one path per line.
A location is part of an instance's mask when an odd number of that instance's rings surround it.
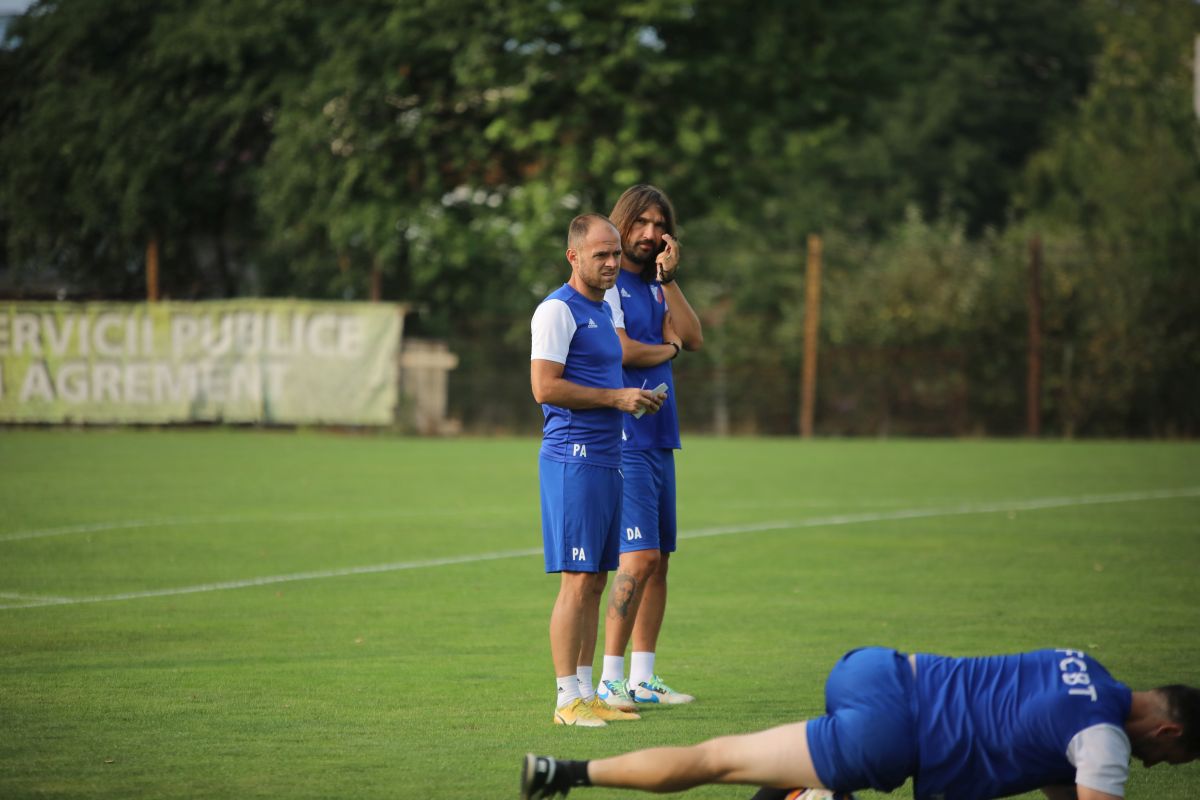
M 642 276 L 629 270 L 617 273 L 617 285 L 605 293 L 605 302 L 612 306 L 613 321 L 624 327 L 625 335 L 643 344 L 664 344 L 662 319 L 667 313 L 667 301 L 662 284 L 647 283 Z M 653 367 L 624 367 L 624 385 L 634 389 L 654 389 L 667 385 L 667 398 L 656 414 L 643 414 L 641 419 L 625 417 L 625 447 L 628 450 L 679 450 L 679 414 L 674 399 L 674 378 L 671 362 Z

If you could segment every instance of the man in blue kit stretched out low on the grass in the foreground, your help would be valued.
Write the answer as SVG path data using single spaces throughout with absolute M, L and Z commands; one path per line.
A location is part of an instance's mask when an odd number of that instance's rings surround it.
M 1124 796 L 1129 757 L 1200 758 L 1200 690 L 1134 692 L 1079 650 L 952 658 L 852 650 L 829 673 L 826 715 L 769 730 L 593 762 L 526 756 L 523 800 L 576 786 L 683 792 L 706 783 L 892 792 L 989 800 L 1042 789 L 1050 800 Z

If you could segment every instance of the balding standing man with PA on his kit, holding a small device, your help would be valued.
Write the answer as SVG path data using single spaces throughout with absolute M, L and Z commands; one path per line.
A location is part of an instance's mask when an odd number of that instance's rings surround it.
M 550 649 L 558 702 L 556 724 L 601 727 L 637 720 L 595 696 L 600 597 L 618 563 L 622 417 L 658 411 L 662 396 L 625 389 L 620 339 L 604 293 L 620 270 L 620 235 L 608 219 L 586 213 L 566 240 L 571 277 L 534 312 L 529 381 L 546 423 L 539 455 L 546 572 L 558 572 Z

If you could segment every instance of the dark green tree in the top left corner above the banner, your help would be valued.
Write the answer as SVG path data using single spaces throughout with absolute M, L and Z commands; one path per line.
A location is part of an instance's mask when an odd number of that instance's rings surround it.
M 11 259 L 136 296 L 158 237 L 168 294 L 238 293 L 232 261 L 256 239 L 250 178 L 269 109 L 307 48 L 299 7 L 78 1 L 18 19 L 22 43 L 2 54 Z

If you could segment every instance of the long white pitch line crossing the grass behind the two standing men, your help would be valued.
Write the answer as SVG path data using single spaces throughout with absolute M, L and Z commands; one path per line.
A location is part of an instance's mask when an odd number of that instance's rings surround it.
M 834 515 L 829 517 L 811 517 L 808 519 L 787 519 L 779 522 L 761 522 L 746 525 L 727 525 L 719 528 L 701 528 L 680 534 L 680 539 L 704 539 L 707 536 L 730 536 L 737 534 L 752 534 L 767 530 L 787 530 L 794 528 L 822 528 L 834 525 L 856 525 L 869 522 L 893 522 L 900 519 L 922 519 L 930 517 L 953 517 L 974 513 L 996 513 L 1003 511 L 1040 511 L 1043 509 L 1063 509 L 1084 505 L 1103 505 L 1109 503 L 1136 503 L 1141 500 L 1170 500 L 1175 498 L 1200 497 L 1200 487 L 1181 489 L 1160 489 L 1152 492 L 1120 492 L 1115 494 L 1082 494 L 1062 498 L 1037 498 L 1032 500 L 1007 500 L 998 503 L 964 504 L 948 507 L 934 509 L 904 509 L 899 511 L 884 511 L 871 513 Z M 118 595 L 94 595 L 91 597 L 41 597 L 20 604 L 0 604 L 0 610 L 19 608 L 42 608 L 46 606 L 80 606 L 84 603 L 103 603 L 118 600 L 140 600 L 144 597 L 173 597 L 178 595 L 192 595 L 205 591 L 223 591 L 226 589 L 247 589 L 250 587 L 265 587 L 274 583 L 290 583 L 294 581 L 318 581 L 323 578 L 338 578 L 354 575 L 371 575 L 377 572 L 397 572 L 401 570 L 421 570 L 433 566 L 446 566 L 451 564 L 476 564 L 480 561 L 496 561 L 499 559 L 524 558 L 540 555 L 540 547 L 532 547 L 521 551 L 504 551 L 499 553 L 476 553 L 470 555 L 455 555 L 438 559 L 426 559 L 422 561 L 394 561 L 390 564 L 373 564 L 368 566 L 353 566 L 341 570 L 318 570 L 314 572 L 294 572 L 292 575 L 275 575 L 260 578 L 244 578 L 240 581 L 223 581 L 220 583 L 202 583 L 194 587 L 176 587 L 169 589 L 150 589 L 146 591 L 128 591 Z M 0 595 L 4 597 L 7 595 Z

